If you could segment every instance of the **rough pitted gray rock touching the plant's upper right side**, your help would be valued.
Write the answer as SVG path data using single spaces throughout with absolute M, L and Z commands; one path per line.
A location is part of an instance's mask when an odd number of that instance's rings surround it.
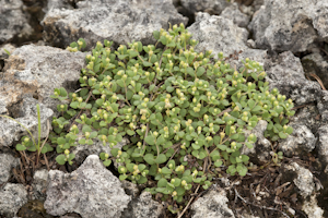
M 277 87 L 296 106 L 320 100 L 320 85 L 305 78 L 300 59 L 291 51 L 280 53 L 277 60 L 268 59 L 265 69 L 270 89 Z

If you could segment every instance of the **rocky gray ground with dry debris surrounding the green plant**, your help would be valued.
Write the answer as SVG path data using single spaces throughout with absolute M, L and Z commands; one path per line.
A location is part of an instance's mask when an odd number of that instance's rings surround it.
M 167 213 L 142 186 L 120 182 L 98 158 L 102 145 L 77 147 L 73 166 L 56 164 L 56 153 L 16 152 L 26 131 L 0 118 L 0 217 L 328 217 L 328 1 L 327 0 L 0 0 L 0 114 L 47 137 L 58 101 L 55 87 L 78 88 L 82 52 L 65 50 L 84 38 L 90 49 L 114 46 L 184 23 L 200 41 L 198 51 L 223 51 L 238 64 L 263 64 L 270 87 L 295 102 L 294 132 L 271 143 L 259 122 L 249 152 L 257 166 L 244 177 L 222 172 L 208 190 L 188 201 L 185 213 Z M 10 53 L 4 51 L 4 49 Z M 283 152 L 283 160 L 273 154 Z

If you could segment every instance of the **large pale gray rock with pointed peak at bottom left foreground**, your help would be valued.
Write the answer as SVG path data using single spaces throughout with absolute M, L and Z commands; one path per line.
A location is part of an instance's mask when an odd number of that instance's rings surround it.
M 130 199 L 98 156 L 91 155 L 71 173 L 49 171 L 44 206 L 52 216 L 77 213 L 83 218 L 116 218 L 128 207 Z

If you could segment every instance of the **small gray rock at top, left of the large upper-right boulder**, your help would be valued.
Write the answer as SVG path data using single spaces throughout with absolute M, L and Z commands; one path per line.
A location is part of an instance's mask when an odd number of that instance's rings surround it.
M 220 14 L 220 16 L 233 21 L 233 23 L 239 27 L 246 28 L 249 23 L 249 17 L 241 12 L 237 3 L 233 3 L 230 7 L 225 8 Z

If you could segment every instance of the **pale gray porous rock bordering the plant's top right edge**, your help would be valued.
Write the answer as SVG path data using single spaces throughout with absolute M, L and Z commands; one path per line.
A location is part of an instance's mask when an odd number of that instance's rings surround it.
M 224 57 L 233 56 L 226 62 L 232 66 L 236 65 L 237 69 L 241 66 L 241 60 L 245 58 L 260 63 L 266 60 L 267 51 L 248 48 L 246 46 L 248 32 L 226 17 L 198 12 L 196 22 L 188 31 L 192 34 L 192 38 L 199 41 L 196 47 L 198 52 L 212 50 L 215 58 L 221 51 Z

